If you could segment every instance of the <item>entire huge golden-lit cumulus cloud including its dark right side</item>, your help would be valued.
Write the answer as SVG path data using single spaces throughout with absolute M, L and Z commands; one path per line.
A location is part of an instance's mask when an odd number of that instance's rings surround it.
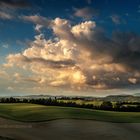
M 48 25 L 46 18 L 30 19 Z M 56 18 L 49 23 L 54 38 L 35 36 L 23 52 L 7 56 L 6 68 L 30 71 L 36 75 L 30 81 L 50 87 L 83 90 L 139 86 L 139 35 L 115 32 L 108 37 L 97 30 L 94 21 L 72 25 Z

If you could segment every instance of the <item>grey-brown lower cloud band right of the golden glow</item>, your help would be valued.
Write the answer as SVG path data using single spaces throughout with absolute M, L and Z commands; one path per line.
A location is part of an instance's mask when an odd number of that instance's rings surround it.
M 136 82 L 129 81 L 130 77 L 134 77 L 134 73 L 117 73 L 117 72 L 106 72 L 96 74 L 96 79 L 92 78 L 92 75 L 87 75 L 86 84 L 89 86 L 94 86 L 98 84 L 104 84 L 102 89 L 114 89 L 114 88 L 127 88 L 130 86 L 140 85 L 140 81 L 135 78 Z

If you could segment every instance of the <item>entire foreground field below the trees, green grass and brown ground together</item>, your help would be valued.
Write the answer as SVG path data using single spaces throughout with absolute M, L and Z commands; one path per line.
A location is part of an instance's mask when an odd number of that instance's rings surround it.
M 133 122 L 140 113 L 0 104 L 0 140 L 139 140 L 140 123 Z

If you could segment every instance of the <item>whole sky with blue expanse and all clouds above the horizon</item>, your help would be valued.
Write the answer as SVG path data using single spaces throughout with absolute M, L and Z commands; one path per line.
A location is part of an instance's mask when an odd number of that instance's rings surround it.
M 140 92 L 140 0 L 0 0 L 0 96 Z

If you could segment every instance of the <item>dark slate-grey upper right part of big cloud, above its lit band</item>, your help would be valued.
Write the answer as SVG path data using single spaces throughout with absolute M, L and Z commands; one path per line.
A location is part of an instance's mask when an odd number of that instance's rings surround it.
M 121 63 L 128 70 L 140 70 L 140 36 L 131 32 L 115 32 L 112 37 L 95 31 L 89 40 L 84 40 L 85 49 L 93 52 L 93 58 L 111 56 L 107 63 Z M 96 55 L 95 55 L 96 54 Z M 104 63 L 104 61 L 103 61 Z

